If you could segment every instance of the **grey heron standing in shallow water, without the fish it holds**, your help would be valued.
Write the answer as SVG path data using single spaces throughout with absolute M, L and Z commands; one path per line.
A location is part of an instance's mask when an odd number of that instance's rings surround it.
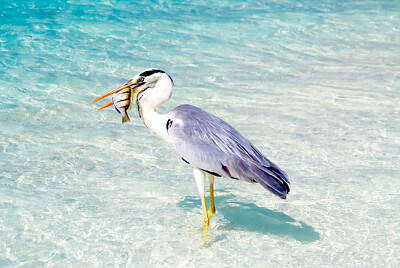
M 154 134 L 171 143 L 182 160 L 193 168 L 205 226 L 209 225 L 209 216 L 215 213 L 214 176 L 259 183 L 286 199 L 290 184 L 286 172 L 228 123 L 187 104 L 168 114 L 157 113 L 157 108 L 171 98 L 173 85 L 172 78 L 164 71 L 147 69 L 94 102 L 128 88 L 133 94 L 137 93 L 136 105 L 143 123 Z M 110 102 L 100 109 L 112 104 Z M 208 213 L 204 191 L 206 175 L 210 183 Z

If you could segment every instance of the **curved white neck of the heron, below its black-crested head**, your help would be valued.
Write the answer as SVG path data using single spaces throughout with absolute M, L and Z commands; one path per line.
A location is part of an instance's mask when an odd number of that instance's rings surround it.
M 172 81 L 164 74 L 154 88 L 148 88 L 138 96 L 138 105 L 143 123 L 151 132 L 170 143 L 167 132 L 168 116 L 157 113 L 157 108 L 167 102 L 172 95 Z

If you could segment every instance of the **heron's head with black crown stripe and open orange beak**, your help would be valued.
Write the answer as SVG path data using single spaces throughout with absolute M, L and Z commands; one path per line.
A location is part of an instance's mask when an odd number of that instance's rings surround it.
M 140 93 L 148 88 L 154 87 L 162 77 L 168 77 L 168 80 L 170 80 L 170 83 L 173 84 L 172 78 L 166 72 L 164 72 L 162 70 L 154 69 L 154 68 L 143 70 L 140 73 L 138 73 L 137 75 L 135 75 L 129 81 L 116 87 L 115 89 L 111 90 L 110 92 L 102 95 L 101 97 L 97 98 L 93 102 L 99 101 L 105 97 L 112 95 L 112 94 L 118 93 L 121 90 L 126 89 L 126 88 L 131 88 L 132 94 Z M 112 102 L 101 107 L 99 110 L 104 109 L 111 105 L 112 105 Z

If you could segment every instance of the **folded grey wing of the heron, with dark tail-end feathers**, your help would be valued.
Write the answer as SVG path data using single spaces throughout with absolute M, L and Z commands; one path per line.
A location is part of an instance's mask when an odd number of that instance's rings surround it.
M 169 115 L 168 134 L 185 162 L 217 176 L 258 182 L 286 198 L 287 174 L 228 123 L 191 105 L 178 106 Z

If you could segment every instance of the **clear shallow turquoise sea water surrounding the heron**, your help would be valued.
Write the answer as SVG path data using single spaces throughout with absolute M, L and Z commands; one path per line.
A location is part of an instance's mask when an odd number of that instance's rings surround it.
M 191 169 L 91 102 L 142 69 L 291 176 Z M 399 1 L 0 0 L 1 267 L 397 267 Z M 105 103 L 105 102 L 104 102 Z

